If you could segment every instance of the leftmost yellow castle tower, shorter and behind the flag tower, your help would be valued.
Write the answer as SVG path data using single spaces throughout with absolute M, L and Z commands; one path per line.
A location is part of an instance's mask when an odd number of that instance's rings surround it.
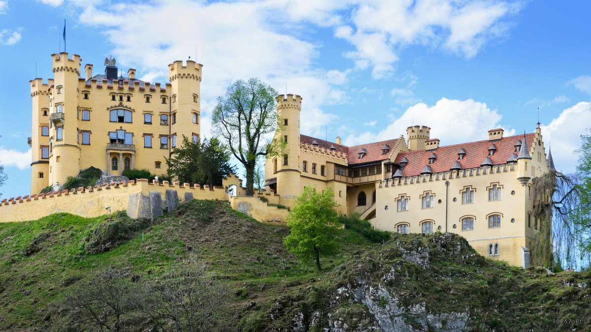
M 49 87 L 53 80 L 43 84 L 43 79 L 31 83 L 33 99 L 33 127 L 31 128 L 31 194 L 38 194 L 47 187 L 49 179 Z

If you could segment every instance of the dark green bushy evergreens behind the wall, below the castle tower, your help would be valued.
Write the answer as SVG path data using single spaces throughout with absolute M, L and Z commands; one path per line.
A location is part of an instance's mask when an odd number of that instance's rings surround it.
M 194 143 L 183 135 L 183 144 L 165 158 L 168 175 L 181 183 L 221 185 L 224 175 L 233 172 L 230 153 L 219 139 Z

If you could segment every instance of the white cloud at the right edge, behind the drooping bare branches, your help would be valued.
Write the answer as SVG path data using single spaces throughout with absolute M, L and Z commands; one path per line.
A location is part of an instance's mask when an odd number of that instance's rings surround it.
M 591 127 L 591 103 L 579 102 L 563 110 L 548 125 L 541 126 L 544 144 L 552 147 L 552 157 L 556 169 L 561 172 L 573 172 L 579 156 L 573 151 L 580 148 L 580 135 L 588 134 Z

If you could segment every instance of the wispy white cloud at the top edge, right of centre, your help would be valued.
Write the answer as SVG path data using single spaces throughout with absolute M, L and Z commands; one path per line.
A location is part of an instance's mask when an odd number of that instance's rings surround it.
M 337 27 L 335 36 L 355 46 L 345 56 L 356 67 L 372 66 L 374 78 L 382 78 L 395 69 L 395 51 L 411 44 L 475 56 L 487 41 L 505 33 L 509 25 L 505 19 L 519 9 L 521 5 L 488 0 L 360 1 L 352 11 L 355 27 Z

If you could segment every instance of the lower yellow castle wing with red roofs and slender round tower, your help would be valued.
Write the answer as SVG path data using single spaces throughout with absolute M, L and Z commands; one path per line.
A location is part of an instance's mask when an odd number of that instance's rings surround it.
M 302 98 L 277 97 L 284 125 L 275 139 L 289 154 L 269 157 L 265 184 L 293 206 L 304 187 L 331 187 L 342 214 L 359 214 L 376 229 L 398 233 L 453 232 L 481 255 L 528 266 L 538 220 L 532 217 L 532 180 L 554 170 L 540 123 L 531 134 L 440 146 L 427 126 L 407 138 L 348 147 L 300 134 Z

